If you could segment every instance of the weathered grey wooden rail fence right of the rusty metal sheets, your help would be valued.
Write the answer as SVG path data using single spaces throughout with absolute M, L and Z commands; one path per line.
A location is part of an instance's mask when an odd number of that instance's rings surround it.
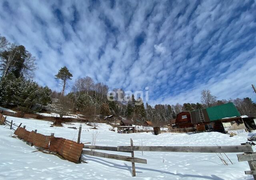
M 245 174 L 252 174 L 254 180 L 256 180 L 256 152 L 253 152 L 252 146 L 249 143 L 243 143 L 237 146 L 133 146 L 131 139 L 131 146 L 84 146 L 86 149 L 91 150 L 107 150 L 132 153 L 130 156 L 120 156 L 116 154 L 107 154 L 103 152 L 94 152 L 89 150 L 83 150 L 82 154 L 89 156 L 98 156 L 102 158 L 110 158 L 116 160 L 123 160 L 132 162 L 132 175 L 135 176 L 135 164 L 142 163 L 147 164 L 146 159 L 134 158 L 134 151 L 151 151 L 151 152 L 190 152 L 190 153 L 239 153 L 237 154 L 238 162 L 248 161 L 250 171 L 245 171 Z

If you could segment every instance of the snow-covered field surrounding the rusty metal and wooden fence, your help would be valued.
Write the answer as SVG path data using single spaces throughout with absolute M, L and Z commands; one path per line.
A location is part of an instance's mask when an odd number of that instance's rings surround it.
M 14 118 L 7 116 L 14 123 L 22 122 L 27 130 L 37 129 L 38 133 L 56 137 L 77 140 L 80 123 L 64 124 L 63 127 L 50 127 L 52 122 Z M 97 131 L 99 146 L 128 146 L 130 138 L 134 145 L 141 146 L 214 146 L 239 145 L 246 142 L 247 134 L 229 137 L 218 132 L 198 134 L 162 133 L 158 136 L 152 133 L 118 134 L 108 130 L 111 126 L 99 124 L 98 130 L 90 129 L 82 124 L 82 142 L 91 142 L 92 133 Z M 28 146 L 22 140 L 13 138 L 13 131 L 0 126 L 0 180 L 6 179 L 170 179 L 170 180 L 249 180 L 251 175 L 245 175 L 250 170 L 247 162 L 238 162 L 236 153 L 227 153 L 233 164 L 224 166 L 214 153 L 173 153 L 173 152 L 135 152 L 135 157 L 147 159 L 148 164 L 136 163 L 136 177 L 132 177 L 131 163 L 120 160 L 83 156 L 87 164 L 74 164 L 57 156 L 32 152 L 34 147 Z M 253 147 L 255 150 L 255 147 Z M 102 151 L 103 152 L 103 151 Z M 107 151 L 104 151 L 107 152 Z M 110 154 L 129 153 L 107 152 Z M 227 160 L 228 161 L 228 160 Z

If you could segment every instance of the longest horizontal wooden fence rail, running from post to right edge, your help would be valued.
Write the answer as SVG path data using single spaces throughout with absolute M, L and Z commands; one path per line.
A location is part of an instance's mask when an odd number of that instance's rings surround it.
M 131 146 L 118 146 L 118 151 L 131 150 Z M 237 146 L 133 146 L 134 151 L 155 151 L 155 152 L 202 152 L 202 153 L 221 153 L 221 152 L 253 152 L 250 145 Z

